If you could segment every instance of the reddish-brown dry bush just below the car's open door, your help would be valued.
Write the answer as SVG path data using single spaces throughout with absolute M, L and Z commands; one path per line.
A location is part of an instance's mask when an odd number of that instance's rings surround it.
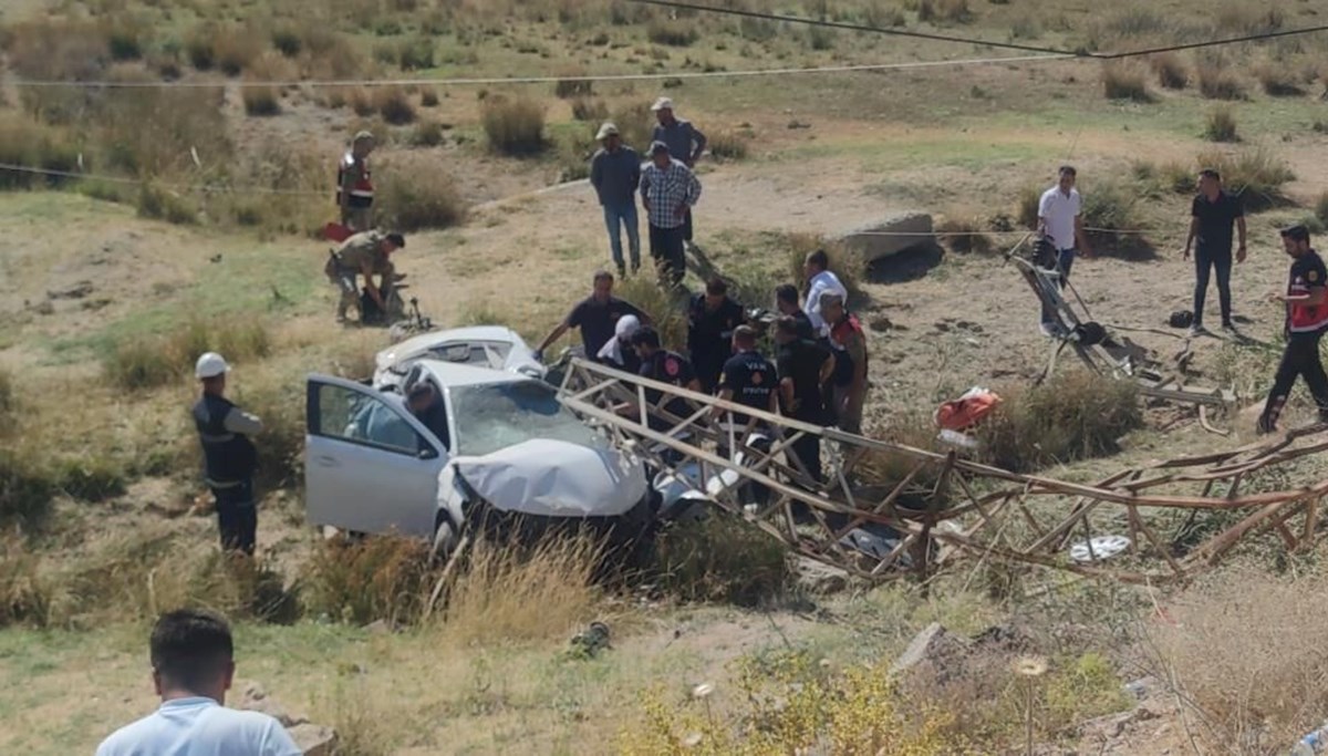
M 353 624 L 378 619 L 412 624 L 424 615 L 436 573 L 422 541 L 372 537 L 348 543 L 333 538 L 309 558 L 301 585 L 312 614 Z

